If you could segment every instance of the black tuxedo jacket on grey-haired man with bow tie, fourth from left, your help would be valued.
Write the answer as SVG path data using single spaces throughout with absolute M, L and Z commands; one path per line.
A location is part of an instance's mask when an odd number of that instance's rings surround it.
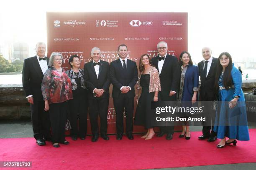
M 104 93 L 101 97 L 96 98 L 108 98 L 109 97 L 109 86 L 110 86 L 110 75 L 109 75 L 109 63 L 100 60 L 99 77 L 97 77 L 93 61 L 88 62 L 84 65 L 84 82 L 88 88 L 88 98 L 93 99 L 93 90 L 104 89 Z

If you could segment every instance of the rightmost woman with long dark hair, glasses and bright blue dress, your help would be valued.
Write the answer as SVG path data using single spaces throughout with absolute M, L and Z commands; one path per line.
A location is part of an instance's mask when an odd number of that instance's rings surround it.
M 220 102 L 214 131 L 221 139 L 217 148 L 223 148 L 225 144 L 236 145 L 236 139 L 249 140 L 249 133 L 241 72 L 234 67 L 228 52 L 222 52 L 218 59 L 215 87 Z

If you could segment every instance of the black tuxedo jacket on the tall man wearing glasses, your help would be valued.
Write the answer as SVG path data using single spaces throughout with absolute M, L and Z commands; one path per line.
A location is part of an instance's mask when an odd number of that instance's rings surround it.
M 151 61 L 152 61 L 152 64 L 156 66 L 156 69 L 159 72 L 159 68 L 158 68 L 159 55 L 152 58 Z M 169 93 L 171 90 L 175 92 L 177 92 L 178 90 L 179 74 L 177 71 L 177 67 L 179 67 L 177 57 L 167 54 L 164 59 L 164 65 L 162 67 L 161 74 L 159 75 L 160 83 L 161 83 L 160 95 L 161 97 L 164 96 L 164 99 L 161 99 L 161 100 L 165 100 L 166 97 L 169 96 Z M 175 99 L 173 98 L 173 100 Z

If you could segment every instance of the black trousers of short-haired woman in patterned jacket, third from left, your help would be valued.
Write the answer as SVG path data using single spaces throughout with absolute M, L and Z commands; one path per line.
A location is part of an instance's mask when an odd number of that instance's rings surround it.
M 73 93 L 74 94 L 74 93 Z M 70 135 L 73 137 L 84 138 L 87 133 L 87 113 L 88 113 L 88 100 L 87 93 L 82 92 L 73 95 L 73 100 L 69 100 L 69 115 L 71 130 Z M 79 126 L 77 125 L 77 118 Z

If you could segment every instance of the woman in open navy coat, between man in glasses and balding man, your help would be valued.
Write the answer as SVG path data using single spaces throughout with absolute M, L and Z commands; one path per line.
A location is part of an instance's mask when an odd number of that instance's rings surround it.
M 179 56 L 179 73 L 180 73 L 180 85 L 178 90 L 178 102 L 182 107 L 192 107 L 197 101 L 197 92 L 199 84 L 199 71 L 198 67 L 193 65 L 189 52 L 183 51 Z M 190 113 L 184 113 L 190 115 Z M 182 125 L 182 133 L 179 138 L 190 139 L 189 122 L 184 121 Z

